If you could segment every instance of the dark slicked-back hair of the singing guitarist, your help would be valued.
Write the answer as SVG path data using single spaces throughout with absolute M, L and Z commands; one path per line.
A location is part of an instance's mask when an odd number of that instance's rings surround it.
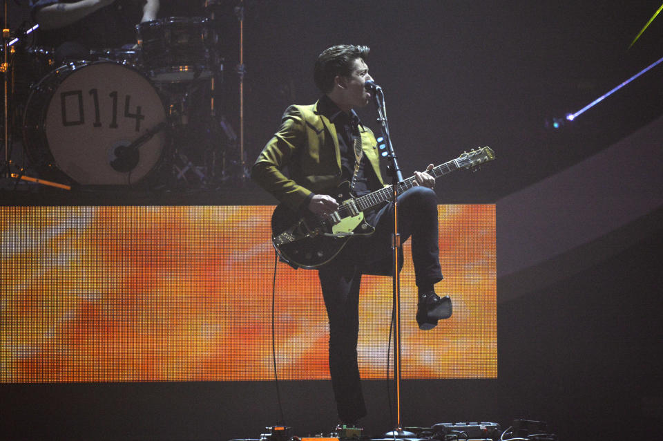
M 313 72 L 316 86 L 323 93 L 329 93 L 334 88 L 336 75 L 347 77 L 352 73 L 354 60 L 361 58 L 366 62 L 370 48 L 368 46 L 354 46 L 353 44 L 339 44 L 323 50 Z

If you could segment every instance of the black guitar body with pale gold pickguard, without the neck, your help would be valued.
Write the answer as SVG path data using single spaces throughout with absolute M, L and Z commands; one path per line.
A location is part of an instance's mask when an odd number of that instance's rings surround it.
M 343 182 L 331 196 L 347 197 L 349 182 Z M 352 197 L 340 205 L 352 205 Z M 282 261 L 293 268 L 317 268 L 331 261 L 355 234 L 372 234 L 374 227 L 364 221 L 363 212 L 339 210 L 332 216 L 301 214 L 280 204 L 271 215 L 272 241 Z

